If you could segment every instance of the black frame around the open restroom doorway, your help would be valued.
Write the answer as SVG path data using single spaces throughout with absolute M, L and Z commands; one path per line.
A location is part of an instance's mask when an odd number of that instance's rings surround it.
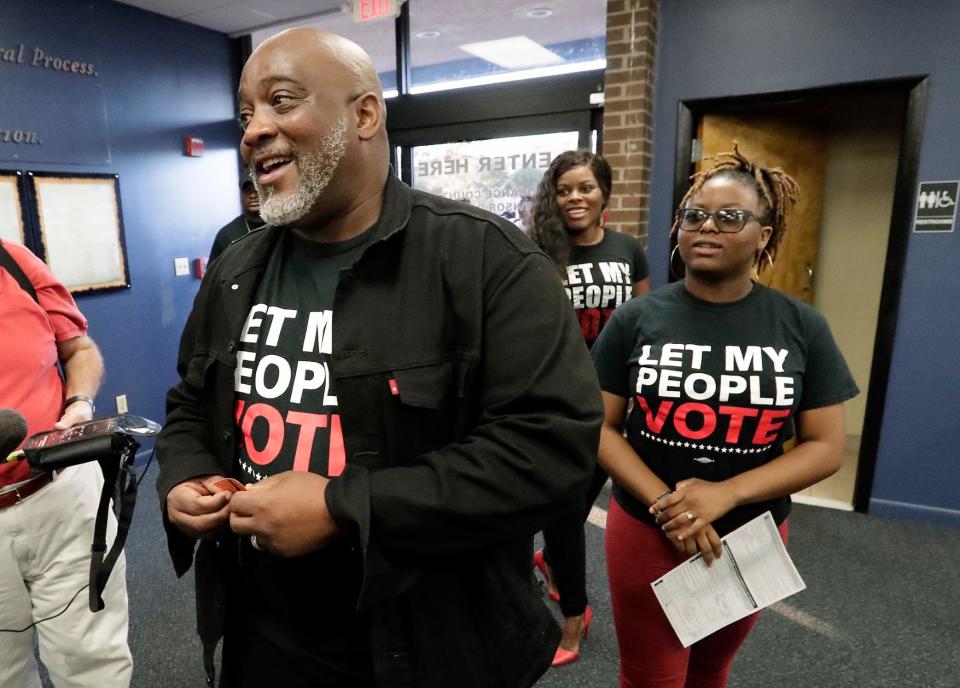
M 680 205 L 690 188 L 694 126 L 707 112 L 735 113 L 744 107 L 813 100 L 834 95 L 856 95 L 877 91 L 900 91 L 906 96 L 907 107 L 900 140 L 897 176 L 893 191 L 893 209 L 890 214 L 890 234 L 887 239 L 887 257 L 880 290 L 880 308 L 877 331 L 874 336 L 873 361 L 870 366 L 870 384 L 867 389 L 863 434 L 857 461 L 857 476 L 853 491 L 854 510 L 866 513 L 870 507 L 873 479 L 876 472 L 877 451 L 887 400 L 893 345 L 899 320 L 900 293 L 906 264 L 907 244 L 913 224 L 913 206 L 916 198 L 920 145 L 926 117 L 927 76 L 835 84 L 819 88 L 756 93 L 742 96 L 681 100 L 677 104 L 677 139 L 674 162 L 673 207 Z M 672 247 L 671 247 L 672 248 Z

